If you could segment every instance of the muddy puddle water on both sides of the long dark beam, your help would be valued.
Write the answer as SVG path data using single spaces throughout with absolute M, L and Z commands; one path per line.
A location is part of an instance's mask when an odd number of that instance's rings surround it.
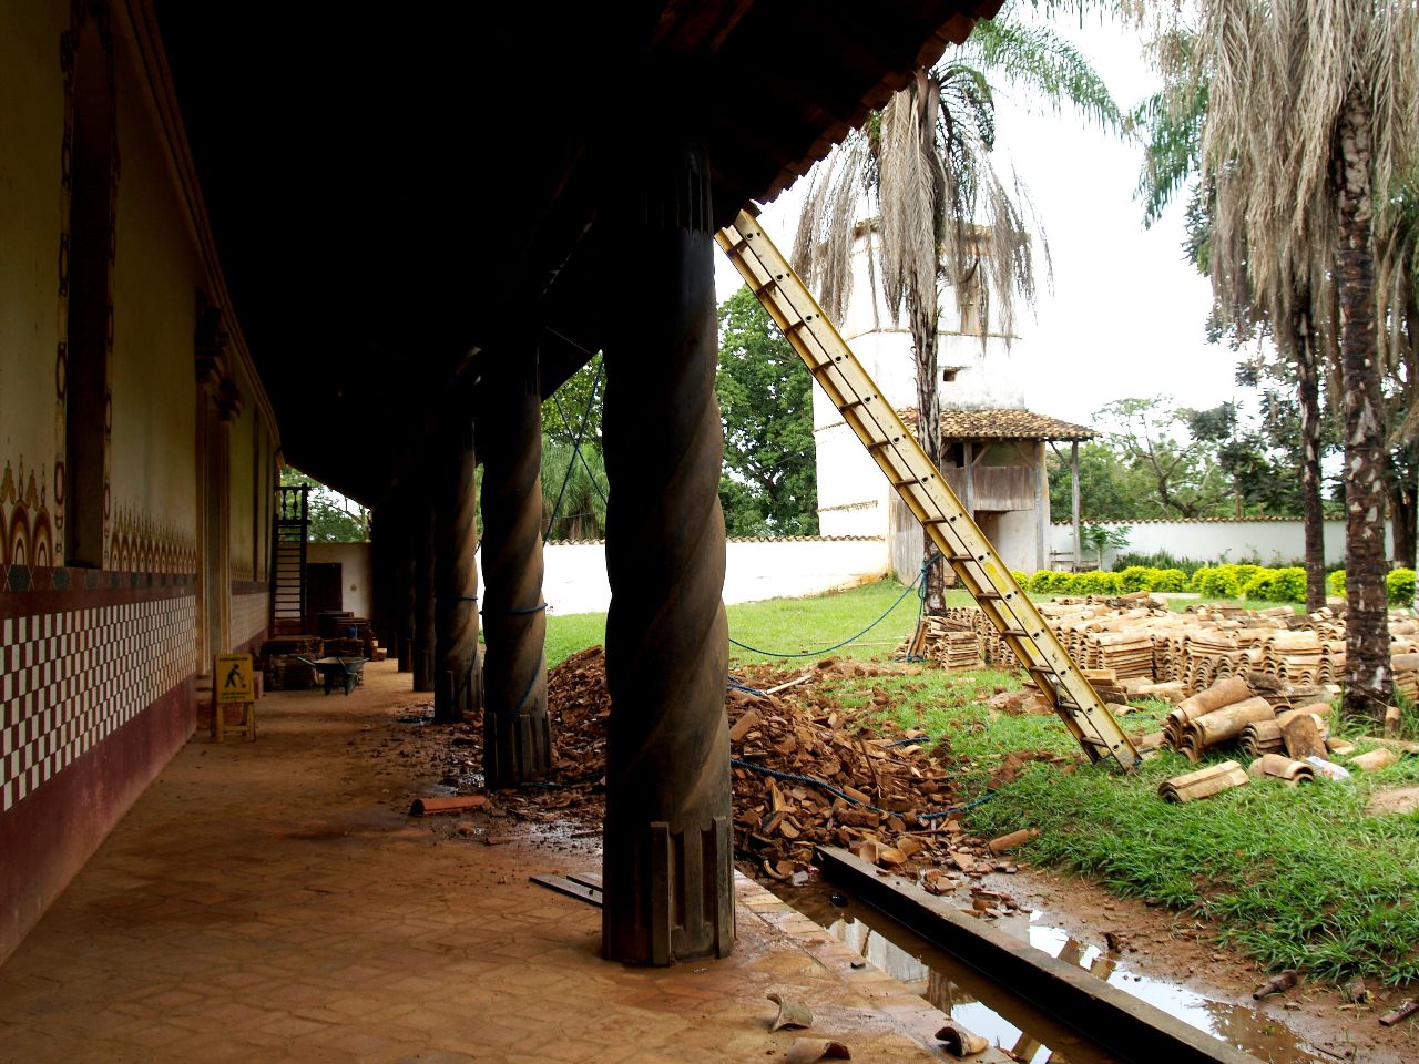
M 905 983 L 912 993 L 1019 1061 L 1105 1064 L 1118 1060 L 839 887 L 823 882 L 807 887 L 779 885 L 775 892 L 836 939 Z M 1216 1000 L 1179 983 L 1155 979 L 1120 953 L 1070 936 L 1064 929 L 1053 926 L 1049 915 L 1040 909 L 1027 916 L 1022 914 L 998 921 L 998 926 L 1257 1060 L 1271 1064 L 1334 1060 L 1276 1019 L 1247 1004 Z

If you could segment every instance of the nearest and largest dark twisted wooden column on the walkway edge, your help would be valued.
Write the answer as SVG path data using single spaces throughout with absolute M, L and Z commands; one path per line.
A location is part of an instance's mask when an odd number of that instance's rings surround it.
M 606 958 L 667 965 L 729 953 L 724 438 L 715 379 L 710 166 L 651 148 L 623 167 L 624 258 L 641 316 L 606 348 Z

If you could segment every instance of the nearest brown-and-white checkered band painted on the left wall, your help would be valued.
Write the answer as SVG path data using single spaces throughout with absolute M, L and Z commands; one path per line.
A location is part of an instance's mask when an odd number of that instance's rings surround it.
M 0 811 L 193 672 L 193 596 L 0 620 Z

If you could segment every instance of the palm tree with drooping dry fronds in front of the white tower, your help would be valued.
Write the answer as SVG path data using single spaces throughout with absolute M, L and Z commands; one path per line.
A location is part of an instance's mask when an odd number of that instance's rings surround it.
M 990 78 L 1032 89 L 1050 106 L 1071 104 L 1117 128 L 1107 87 L 1080 52 L 1046 27 L 1002 11 L 976 23 L 965 45 L 921 68 L 812 173 L 795 240 L 795 267 L 840 318 L 851 294 L 851 253 L 866 211 L 868 267 L 887 305 L 905 309 L 917 376 L 917 434 L 941 462 L 937 333 L 944 289 L 973 306 L 981 339 L 1013 332 L 1016 301 L 1036 297 L 1033 211 L 1019 182 L 1002 180 Z M 1047 245 L 1044 248 L 1047 271 Z M 995 325 L 992 326 L 992 318 Z M 934 546 L 922 533 L 924 556 Z M 927 575 L 927 611 L 945 610 L 939 566 Z

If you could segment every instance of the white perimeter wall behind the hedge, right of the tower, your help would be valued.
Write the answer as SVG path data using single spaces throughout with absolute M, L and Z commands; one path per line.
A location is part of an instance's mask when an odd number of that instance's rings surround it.
M 1174 558 L 1198 562 L 1250 562 L 1263 565 L 1288 563 L 1305 556 L 1305 532 L 1300 521 L 1104 521 L 1105 528 L 1127 528 L 1125 553 L 1151 555 L 1166 550 Z M 1073 552 L 1073 525 L 1050 526 L 1050 550 Z M 1393 536 L 1385 522 L 1385 553 L 1393 558 Z M 1104 560 L 1112 565 L 1114 555 Z M 1093 560 L 1084 549 L 1084 560 Z M 1341 565 L 1345 560 L 1345 522 L 1325 522 L 1325 560 Z

